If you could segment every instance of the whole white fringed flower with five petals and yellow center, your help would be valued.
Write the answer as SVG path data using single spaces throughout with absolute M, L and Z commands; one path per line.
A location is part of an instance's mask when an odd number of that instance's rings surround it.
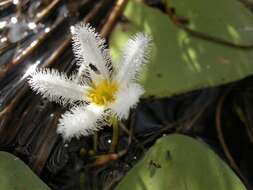
M 59 120 L 58 130 L 65 140 L 87 136 L 108 124 L 112 116 L 126 119 L 144 93 L 136 79 L 147 62 L 150 37 L 138 33 L 123 49 L 115 68 L 105 40 L 88 24 L 72 27 L 73 51 L 79 66 L 67 77 L 53 69 L 36 70 L 29 78 L 34 91 L 61 104 L 70 104 Z

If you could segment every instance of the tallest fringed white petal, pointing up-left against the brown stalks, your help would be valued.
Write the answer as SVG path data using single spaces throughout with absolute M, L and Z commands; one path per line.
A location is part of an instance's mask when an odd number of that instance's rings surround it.
M 80 65 L 78 73 L 94 65 L 103 77 L 110 77 L 111 59 L 102 39 L 89 24 L 78 24 L 71 29 L 73 51 Z M 90 68 L 91 69 L 91 68 Z

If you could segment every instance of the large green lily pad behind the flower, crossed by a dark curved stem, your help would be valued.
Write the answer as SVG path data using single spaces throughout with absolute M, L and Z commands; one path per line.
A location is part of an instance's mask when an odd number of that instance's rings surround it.
M 253 33 L 247 31 L 253 26 L 253 16 L 236 1 L 174 0 L 171 4 L 179 15 L 190 20 L 191 28 L 231 42 L 253 43 Z M 127 4 L 124 16 L 129 22 L 119 23 L 110 38 L 115 62 L 132 34 L 143 31 L 153 37 L 152 58 L 140 81 L 146 96 L 172 96 L 236 81 L 253 73 L 253 51 L 189 36 L 161 11 L 134 0 Z

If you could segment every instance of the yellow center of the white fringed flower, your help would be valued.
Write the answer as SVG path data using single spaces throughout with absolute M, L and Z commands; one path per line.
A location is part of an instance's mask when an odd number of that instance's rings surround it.
M 102 80 L 88 91 L 87 97 L 97 105 L 108 105 L 115 100 L 118 89 L 119 85 L 116 82 Z

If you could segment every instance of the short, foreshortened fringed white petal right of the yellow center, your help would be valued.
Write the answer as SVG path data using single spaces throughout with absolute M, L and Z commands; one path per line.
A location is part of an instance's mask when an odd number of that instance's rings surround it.
M 131 83 L 120 89 L 117 93 L 115 102 L 110 106 L 112 112 L 120 119 L 127 119 L 130 108 L 136 106 L 143 93 L 143 87 L 136 83 Z

